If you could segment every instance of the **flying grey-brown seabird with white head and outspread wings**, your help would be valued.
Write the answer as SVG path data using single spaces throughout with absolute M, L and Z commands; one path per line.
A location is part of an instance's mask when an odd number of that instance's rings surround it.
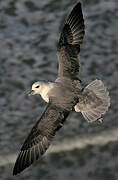
M 40 94 L 48 103 L 32 128 L 17 157 L 13 175 L 29 167 L 48 149 L 56 132 L 72 110 L 81 112 L 88 122 L 100 120 L 110 106 L 109 93 L 101 80 L 85 88 L 80 79 L 80 44 L 85 34 L 81 3 L 66 19 L 60 35 L 57 55 L 58 77 L 55 82 L 35 82 L 29 96 Z

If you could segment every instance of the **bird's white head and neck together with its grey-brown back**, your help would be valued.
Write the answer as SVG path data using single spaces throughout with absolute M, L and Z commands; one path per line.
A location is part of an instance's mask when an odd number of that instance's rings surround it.
M 39 89 L 35 90 L 37 85 L 39 85 Z M 49 103 L 49 100 L 53 100 L 54 104 L 71 111 L 73 104 L 78 102 L 82 87 L 79 80 L 59 77 L 55 82 L 36 82 L 33 84 L 32 90 L 35 90 L 36 94 L 40 94 L 45 102 Z

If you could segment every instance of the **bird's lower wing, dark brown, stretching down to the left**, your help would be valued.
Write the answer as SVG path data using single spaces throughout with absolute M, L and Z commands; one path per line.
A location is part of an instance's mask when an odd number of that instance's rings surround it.
M 32 128 L 17 157 L 13 175 L 29 167 L 49 147 L 57 130 L 62 127 L 69 112 L 49 103 L 40 120 Z

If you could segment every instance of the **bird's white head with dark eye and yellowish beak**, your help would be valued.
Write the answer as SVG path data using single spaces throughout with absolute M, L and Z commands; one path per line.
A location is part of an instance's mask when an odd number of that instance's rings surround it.
M 32 95 L 35 95 L 35 94 L 40 94 L 40 90 L 41 90 L 41 82 L 35 82 L 33 85 L 32 85 L 32 90 L 31 92 L 28 94 L 28 96 L 32 96 Z

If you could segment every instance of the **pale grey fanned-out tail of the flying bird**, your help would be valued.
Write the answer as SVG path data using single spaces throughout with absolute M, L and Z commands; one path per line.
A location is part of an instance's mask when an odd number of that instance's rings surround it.
M 109 92 L 101 80 L 94 80 L 83 90 L 76 112 L 81 112 L 84 118 L 93 122 L 101 118 L 110 106 Z

